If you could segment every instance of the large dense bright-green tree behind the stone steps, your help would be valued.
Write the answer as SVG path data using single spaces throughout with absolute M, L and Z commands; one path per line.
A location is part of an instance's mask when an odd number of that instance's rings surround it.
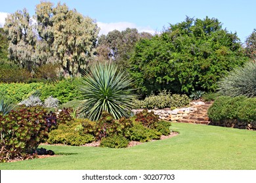
M 129 70 L 144 95 L 164 89 L 209 92 L 217 89 L 217 81 L 226 71 L 245 60 L 236 33 L 222 29 L 219 20 L 187 17 L 161 35 L 139 41 Z

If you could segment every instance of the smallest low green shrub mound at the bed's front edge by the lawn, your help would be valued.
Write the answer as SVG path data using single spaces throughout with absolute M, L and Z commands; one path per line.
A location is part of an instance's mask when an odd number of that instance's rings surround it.
M 129 141 L 120 135 L 113 135 L 110 137 L 104 137 L 100 141 L 100 146 L 108 148 L 126 148 Z

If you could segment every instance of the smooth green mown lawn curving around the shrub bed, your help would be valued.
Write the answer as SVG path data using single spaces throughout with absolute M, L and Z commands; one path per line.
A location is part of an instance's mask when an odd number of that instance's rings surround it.
M 125 149 L 42 146 L 62 156 L 0 163 L 0 169 L 256 169 L 256 131 L 172 124 L 180 134 Z

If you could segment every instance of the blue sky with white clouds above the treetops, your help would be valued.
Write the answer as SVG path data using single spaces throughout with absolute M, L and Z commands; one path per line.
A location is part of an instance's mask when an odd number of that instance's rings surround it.
M 139 31 L 159 32 L 169 24 L 177 24 L 191 18 L 217 18 L 223 28 L 238 34 L 244 42 L 256 28 L 256 1 L 253 0 L 59 0 L 70 9 L 76 9 L 84 16 L 96 20 L 100 33 L 113 29 L 136 27 Z M 51 0 L 54 5 L 59 1 Z M 32 16 L 40 0 L 0 0 L 0 24 L 3 25 L 6 12 L 27 8 Z

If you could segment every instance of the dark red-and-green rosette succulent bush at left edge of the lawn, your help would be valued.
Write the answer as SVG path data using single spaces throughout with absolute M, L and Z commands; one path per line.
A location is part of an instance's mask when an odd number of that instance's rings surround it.
M 0 113 L 0 161 L 33 153 L 48 135 L 45 116 L 47 110 L 42 107 L 20 107 L 5 116 Z

